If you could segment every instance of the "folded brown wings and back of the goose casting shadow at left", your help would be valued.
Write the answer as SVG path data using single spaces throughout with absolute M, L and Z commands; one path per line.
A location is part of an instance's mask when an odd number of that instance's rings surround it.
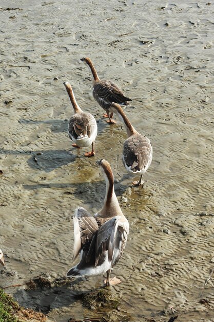
M 68 133 L 77 139 L 80 136 L 96 136 L 97 125 L 95 118 L 90 113 L 76 113 L 71 116 L 68 124 Z

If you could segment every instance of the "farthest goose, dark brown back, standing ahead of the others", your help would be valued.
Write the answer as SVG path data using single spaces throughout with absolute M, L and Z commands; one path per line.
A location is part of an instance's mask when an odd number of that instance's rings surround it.
M 92 79 L 92 94 L 94 99 L 100 104 L 100 106 L 106 111 L 106 114 L 104 114 L 104 117 L 108 117 L 109 120 L 107 120 L 108 123 L 113 124 L 116 123 L 112 119 L 113 113 L 108 110 L 106 103 L 118 103 L 122 106 L 129 105 L 129 101 L 132 101 L 130 98 L 124 96 L 122 90 L 118 85 L 113 83 L 112 81 L 108 80 L 100 80 L 98 73 L 96 73 L 96 69 L 88 57 L 83 57 L 81 61 L 84 62 L 85 65 L 87 65 L 91 73 L 93 75 Z

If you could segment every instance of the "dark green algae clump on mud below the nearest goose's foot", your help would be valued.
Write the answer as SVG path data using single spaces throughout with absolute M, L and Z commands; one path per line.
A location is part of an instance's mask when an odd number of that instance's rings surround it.
M 94 310 L 97 308 L 116 309 L 119 306 L 119 299 L 109 294 L 106 290 L 93 291 L 83 296 L 83 306 Z

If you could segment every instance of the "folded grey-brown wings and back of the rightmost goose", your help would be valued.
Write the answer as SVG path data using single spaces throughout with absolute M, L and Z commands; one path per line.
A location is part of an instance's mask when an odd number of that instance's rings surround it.
M 124 143 L 123 160 L 125 167 L 132 172 L 148 169 L 152 160 L 152 145 L 143 135 L 132 135 Z

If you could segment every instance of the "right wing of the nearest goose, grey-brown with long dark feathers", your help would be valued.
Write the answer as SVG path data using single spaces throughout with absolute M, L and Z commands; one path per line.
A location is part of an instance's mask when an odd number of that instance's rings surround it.
M 128 238 L 129 224 L 121 216 L 115 216 L 106 221 L 97 231 L 95 265 L 104 252 L 108 252 L 108 260 L 111 266 L 115 265 L 123 255 Z

